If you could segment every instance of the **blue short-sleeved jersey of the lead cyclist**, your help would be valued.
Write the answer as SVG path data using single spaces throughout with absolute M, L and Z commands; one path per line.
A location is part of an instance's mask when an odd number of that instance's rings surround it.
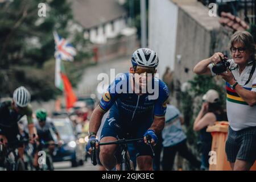
M 133 74 L 122 73 L 110 84 L 100 102 L 100 108 L 104 112 L 115 105 L 120 115 L 127 121 L 134 118 L 144 118 L 146 116 L 164 117 L 166 113 L 166 102 L 169 97 L 169 90 L 166 84 L 158 78 L 152 79 L 152 88 L 158 86 L 158 96 L 152 99 L 155 93 L 145 93 L 139 96 L 131 91 L 133 84 Z

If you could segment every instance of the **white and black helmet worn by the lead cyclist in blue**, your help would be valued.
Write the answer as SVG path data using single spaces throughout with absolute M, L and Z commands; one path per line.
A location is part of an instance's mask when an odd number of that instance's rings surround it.
M 131 63 L 134 66 L 140 65 L 143 67 L 154 67 L 158 66 L 158 55 L 155 51 L 149 48 L 140 48 L 134 51 L 133 56 L 131 57 Z

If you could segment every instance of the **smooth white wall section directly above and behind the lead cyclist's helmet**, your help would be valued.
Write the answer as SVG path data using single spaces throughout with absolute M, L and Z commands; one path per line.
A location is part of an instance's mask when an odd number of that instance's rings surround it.
M 162 78 L 166 67 L 175 69 L 178 7 L 170 0 L 149 3 L 148 43 L 158 53 L 158 73 Z

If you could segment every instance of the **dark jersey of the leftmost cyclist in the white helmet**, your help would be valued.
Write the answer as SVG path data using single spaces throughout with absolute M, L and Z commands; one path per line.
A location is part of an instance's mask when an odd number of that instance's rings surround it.
M 11 107 L 11 101 L 4 101 L 0 106 L 0 127 L 15 127 L 24 115 L 27 115 L 28 124 L 33 123 L 32 121 L 32 109 L 28 105 L 18 113 Z

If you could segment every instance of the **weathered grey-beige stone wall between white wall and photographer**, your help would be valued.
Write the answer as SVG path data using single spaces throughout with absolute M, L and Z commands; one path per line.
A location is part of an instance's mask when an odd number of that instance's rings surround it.
M 215 51 L 220 29 L 218 17 L 210 17 L 208 8 L 199 2 L 177 3 L 177 36 L 175 51 L 174 86 L 172 103 L 179 107 L 181 85 L 191 80 L 193 67 Z

